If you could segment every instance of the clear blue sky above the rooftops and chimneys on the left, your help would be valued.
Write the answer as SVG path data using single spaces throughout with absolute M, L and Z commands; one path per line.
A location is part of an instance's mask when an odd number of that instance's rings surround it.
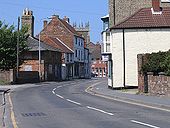
M 91 41 L 101 40 L 102 21 L 108 13 L 108 0 L 1 0 L 0 20 L 17 25 L 17 17 L 24 8 L 29 8 L 35 16 L 35 34 L 43 26 L 43 18 L 57 14 L 60 18 L 68 16 L 71 24 L 90 22 Z

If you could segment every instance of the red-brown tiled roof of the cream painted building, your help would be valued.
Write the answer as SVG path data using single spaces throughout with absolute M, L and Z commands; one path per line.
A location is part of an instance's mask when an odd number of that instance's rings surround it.
M 123 28 L 170 28 L 170 7 L 160 13 L 152 13 L 152 8 L 143 8 L 111 29 Z

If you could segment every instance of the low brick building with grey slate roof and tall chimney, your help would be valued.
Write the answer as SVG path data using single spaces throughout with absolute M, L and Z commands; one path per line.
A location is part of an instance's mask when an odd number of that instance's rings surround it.
M 61 80 L 61 50 L 34 37 L 34 16 L 31 10 L 23 11 L 21 23 L 28 27 L 30 36 L 27 40 L 29 51 L 20 55 L 24 63 L 20 65 L 19 79 L 26 82 Z

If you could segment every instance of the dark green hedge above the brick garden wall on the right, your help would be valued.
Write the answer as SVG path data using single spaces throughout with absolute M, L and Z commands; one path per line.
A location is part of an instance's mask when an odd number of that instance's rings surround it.
M 170 75 L 170 51 L 149 54 L 147 62 L 142 66 L 142 72 L 153 72 L 155 75 L 165 72 Z

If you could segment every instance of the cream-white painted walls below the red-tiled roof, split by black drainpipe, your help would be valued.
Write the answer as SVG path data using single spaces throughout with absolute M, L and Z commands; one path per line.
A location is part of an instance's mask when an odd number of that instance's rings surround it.
M 170 29 L 125 29 L 126 85 L 138 85 L 137 54 L 168 51 Z M 112 30 L 113 87 L 123 87 L 123 32 Z

